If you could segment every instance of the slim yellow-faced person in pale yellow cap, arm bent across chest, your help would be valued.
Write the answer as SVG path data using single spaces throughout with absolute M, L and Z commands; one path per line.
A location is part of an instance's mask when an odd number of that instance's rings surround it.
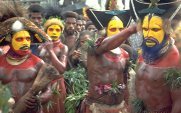
M 43 44 L 40 47 L 39 56 L 46 62 L 53 65 L 60 74 L 63 74 L 67 65 L 68 47 L 64 45 L 60 36 L 64 26 L 60 19 L 50 18 L 44 24 L 45 32 L 50 36 L 52 42 Z M 64 78 L 59 78 L 52 82 L 52 89 L 57 90 L 59 94 L 53 94 L 52 107 L 44 111 L 45 113 L 65 113 L 64 101 L 66 98 L 66 89 Z

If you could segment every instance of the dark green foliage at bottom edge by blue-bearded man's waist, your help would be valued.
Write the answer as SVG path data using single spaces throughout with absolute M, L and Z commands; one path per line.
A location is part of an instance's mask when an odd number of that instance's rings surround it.
M 136 98 L 134 100 L 132 100 L 132 105 L 133 105 L 133 112 L 134 113 L 143 113 L 145 107 L 144 107 L 144 103 L 142 100 Z

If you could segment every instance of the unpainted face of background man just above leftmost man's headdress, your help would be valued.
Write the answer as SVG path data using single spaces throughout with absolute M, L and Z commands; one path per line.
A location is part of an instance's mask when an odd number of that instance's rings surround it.
M 41 13 L 30 13 L 30 20 L 40 27 L 43 22 L 43 17 Z

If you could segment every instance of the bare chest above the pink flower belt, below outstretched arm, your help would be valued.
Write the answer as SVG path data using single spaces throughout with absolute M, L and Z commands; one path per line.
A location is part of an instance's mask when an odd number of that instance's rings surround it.
M 90 67 L 89 75 L 90 81 L 97 83 L 113 83 L 123 81 L 123 72 L 126 65 L 126 59 L 120 57 L 114 57 L 113 60 L 106 56 L 92 57 L 91 61 L 88 61 L 88 67 Z M 90 60 L 90 59 L 88 59 Z

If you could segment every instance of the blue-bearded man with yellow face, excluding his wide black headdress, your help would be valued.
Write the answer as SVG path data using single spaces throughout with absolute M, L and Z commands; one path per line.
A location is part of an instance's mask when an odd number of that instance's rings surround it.
M 136 98 L 130 98 L 132 112 L 180 113 L 179 51 L 170 37 L 170 24 L 159 13 L 161 9 L 152 8 L 140 23 L 142 56 L 136 70 Z

